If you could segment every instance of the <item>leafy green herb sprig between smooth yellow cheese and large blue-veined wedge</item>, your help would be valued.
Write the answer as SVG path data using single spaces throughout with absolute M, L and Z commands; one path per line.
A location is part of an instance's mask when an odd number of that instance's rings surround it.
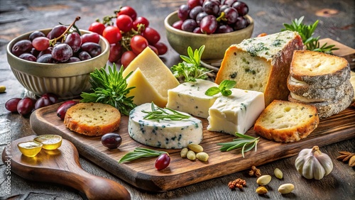
M 207 79 L 207 73 L 212 72 L 200 65 L 204 45 L 195 52 L 191 47 L 187 48 L 187 55 L 180 55 L 182 62 L 171 67 L 171 71 L 176 78 L 182 78 L 184 82 L 196 82 L 196 79 Z

